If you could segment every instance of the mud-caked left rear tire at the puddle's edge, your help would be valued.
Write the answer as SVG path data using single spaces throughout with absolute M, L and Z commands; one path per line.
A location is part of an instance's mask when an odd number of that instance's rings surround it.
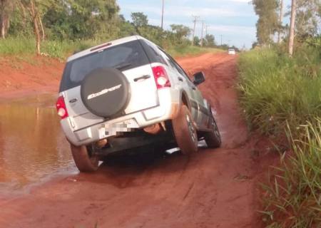
M 71 153 L 80 172 L 94 172 L 98 169 L 98 156 L 92 154 L 89 146 L 71 144 Z

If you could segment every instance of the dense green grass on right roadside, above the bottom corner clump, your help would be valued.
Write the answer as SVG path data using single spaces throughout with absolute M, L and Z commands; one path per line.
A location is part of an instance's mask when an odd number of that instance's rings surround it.
M 250 128 L 284 133 L 321 116 L 320 53 L 312 48 L 295 58 L 259 49 L 240 56 L 240 103 Z

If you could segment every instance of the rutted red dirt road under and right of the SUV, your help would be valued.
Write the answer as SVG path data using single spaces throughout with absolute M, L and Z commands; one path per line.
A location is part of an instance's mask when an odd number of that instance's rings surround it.
M 225 53 L 180 60 L 190 73 L 205 72 L 200 90 L 217 112 L 220 149 L 127 157 L 15 199 L 0 195 L 0 227 L 260 227 L 259 167 L 238 107 L 236 61 Z

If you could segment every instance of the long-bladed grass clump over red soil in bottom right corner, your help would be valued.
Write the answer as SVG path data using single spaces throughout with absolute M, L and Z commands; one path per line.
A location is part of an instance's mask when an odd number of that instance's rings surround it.
M 305 140 L 290 137 L 291 154 L 263 186 L 267 227 L 321 227 L 321 119 L 304 129 Z

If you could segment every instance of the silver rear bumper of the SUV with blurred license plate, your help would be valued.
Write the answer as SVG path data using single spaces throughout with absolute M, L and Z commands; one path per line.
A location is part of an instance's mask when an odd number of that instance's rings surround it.
M 176 94 L 173 88 L 165 88 L 158 91 L 158 98 L 160 105 L 156 107 L 91 125 L 81 130 L 72 130 L 70 118 L 61 120 L 61 127 L 73 145 L 88 145 L 103 138 L 116 136 L 119 133 L 145 128 L 175 118 L 178 115 L 180 105 L 179 93 Z

